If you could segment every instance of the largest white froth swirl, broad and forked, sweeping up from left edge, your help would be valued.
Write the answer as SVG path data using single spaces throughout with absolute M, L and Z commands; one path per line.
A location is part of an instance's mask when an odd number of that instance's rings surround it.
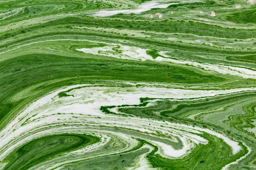
M 136 85 L 135 83 L 129 83 Z M 67 91 L 71 88 L 84 86 L 83 88 L 74 89 L 67 94 L 74 95 L 68 97 L 58 97 L 58 93 Z M 233 141 L 221 133 L 203 129 L 199 127 L 192 127 L 188 125 L 174 124 L 171 122 L 163 122 L 152 119 L 138 118 L 138 117 L 124 117 L 118 115 L 117 110 L 113 110 L 117 115 L 105 114 L 100 111 L 101 106 L 111 105 L 138 105 L 140 98 L 162 98 L 162 99 L 189 99 L 195 97 L 215 96 L 218 94 L 229 94 L 239 91 L 251 91 L 253 88 L 241 88 L 231 90 L 219 91 L 202 91 L 202 90 L 184 90 L 173 88 L 157 88 L 157 87 L 139 87 L 139 88 L 119 88 L 119 87 L 90 87 L 90 85 L 75 85 L 61 90 L 52 92 L 41 99 L 33 102 L 24 111 L 20 112 L 10 124 L 0 132 L 0 160 L 3 159 L 8 153 L 18 146 L 30 141 L 31 139 L 38 138 L 47 134 L 72 132 L 80 128 L 87 129 L 92 127 L 121 127 L 127 130 L 134 130 L 136 133 L 146 133 L 147 138 L 153 136 L 157 137 L 157 133 L 164 134 L 165 140 L 177 142 L 176 138 L 182 141 L 183 148 L 175 150 L 172 145 L 159 141 L 147 139 L 141 136 L 144 140 L 151 141 L 160 147 L 160 154 L 166 157 L 180 157 L 189 153 L 197 144 L 206 144 L 207 140 L 199 135 L 206 132 L 221 138 L 230 145 L 233 154 L 239 152 L 241 147 L 238 142 Z M 60 114 L 59 114 L 60 113 Z M 49 127 L 49 125 L 65 123 L 67 127 L 56 128 L 52 127 L 49 130 L 41 131 L 41 128 Z M 149 125 L 150 124 L 150 125 Z M 169 127 L 166 127 L 168 125 Z M 74 128 L 74 127 L 76 128 Z M 39 130 L 39 131 L 38 131 Z M 98 131 L 94 129 L 96 133 Z M 38 132 L 37 132 L 38 131 Z M 191 133 L 192 132 L 192 133 Z M 107 132 L 105 132 L 107 133 Z M 136 135 L 134 133 L 134 135 Z M 104 134 L 104 133 L 103 133 Z M 119 138 L 127 140 L 131 136 L 125 133 L 119 134 Z M 117 134 L 113 134 L 117 135 Z M 130 140 L 127 140 L 130 141 Z M 83 150 L 83 149 L 81 149 Z

